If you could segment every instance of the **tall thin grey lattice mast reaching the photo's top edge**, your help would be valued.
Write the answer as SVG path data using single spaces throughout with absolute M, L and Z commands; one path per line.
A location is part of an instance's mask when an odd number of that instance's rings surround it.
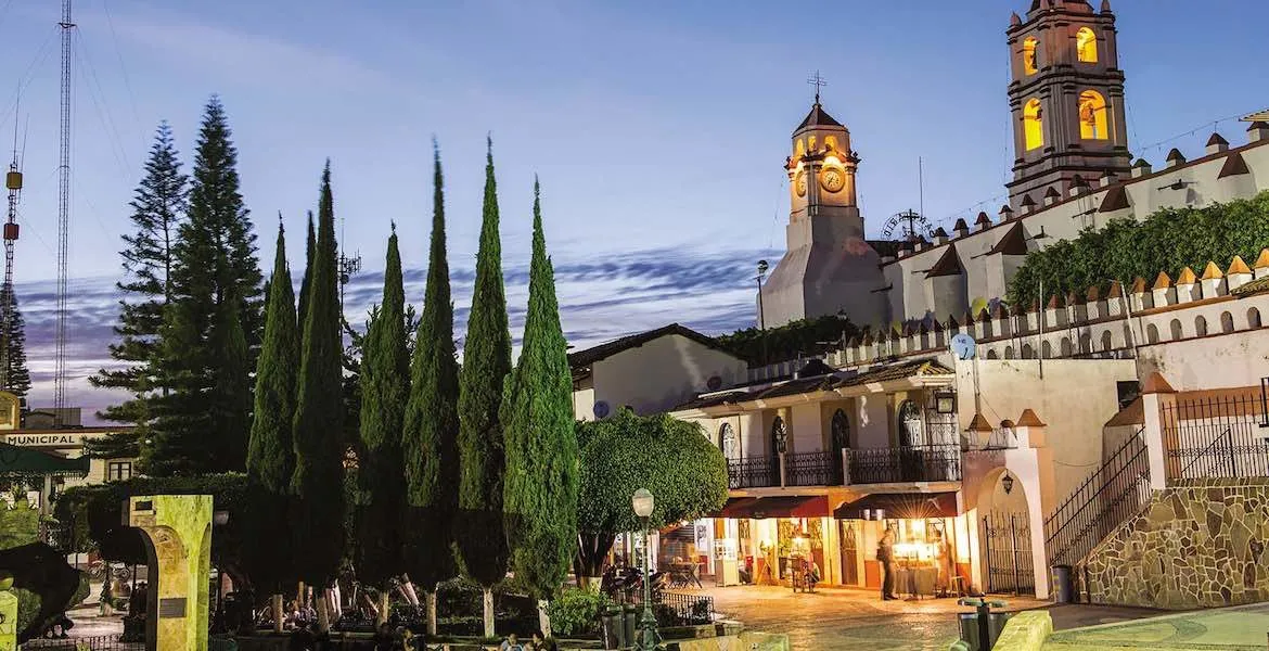
M 53 376 L 53 412 L 62 424 L 66 407 L 66 261 L 71 212 L 71 0 L 62 0 L 62 100 L 61 165 L 57 168 L 57 365 Z

